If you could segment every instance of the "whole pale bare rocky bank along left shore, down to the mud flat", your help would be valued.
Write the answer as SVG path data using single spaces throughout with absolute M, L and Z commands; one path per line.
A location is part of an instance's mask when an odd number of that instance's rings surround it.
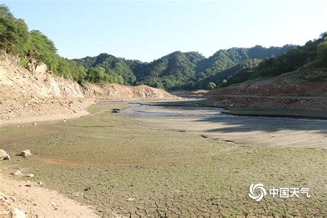
M 97 99 L 175 98 L 164 90 L 148 86 L 113 83 L 80 86 L 75 81 L 53 75 L 42 63 L 30 72 L 19 65 L 17 58 L 0 51 L 0 125 L 79 117 L 88 114 L 85 108 Z

